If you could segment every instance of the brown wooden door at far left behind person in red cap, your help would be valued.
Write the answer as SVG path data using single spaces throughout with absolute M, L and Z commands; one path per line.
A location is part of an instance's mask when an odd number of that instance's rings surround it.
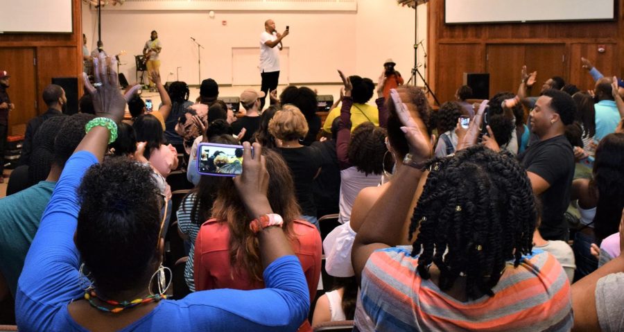
M 35 49 L 0 48 L 0 70 L 11 76 L 7 92 L 15 104 L 9 114 L 9 134 L 24 134 L 28 120 L 37 116 Z

